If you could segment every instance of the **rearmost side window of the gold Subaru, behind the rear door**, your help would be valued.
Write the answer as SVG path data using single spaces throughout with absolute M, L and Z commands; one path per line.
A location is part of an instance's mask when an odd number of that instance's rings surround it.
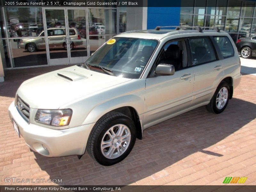
M 227 36 L 215 36 L 214 40 L 218 44 L 220 52 L 224 59 L 234 56 L 234 48 Z

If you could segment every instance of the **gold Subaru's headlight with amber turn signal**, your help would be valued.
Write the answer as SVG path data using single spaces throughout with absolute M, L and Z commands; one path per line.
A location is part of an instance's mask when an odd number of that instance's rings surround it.
M 71 116 L 71 109 L 38 109 L 35 116 L 35 122 L 52 126 L 66 126 L 69 124 Z

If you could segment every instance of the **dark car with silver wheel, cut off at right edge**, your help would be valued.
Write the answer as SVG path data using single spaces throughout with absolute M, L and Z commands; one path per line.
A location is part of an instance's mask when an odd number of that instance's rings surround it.
M 243 58 L 256 57 L 256 36 L 238 39 L 236 48 Z

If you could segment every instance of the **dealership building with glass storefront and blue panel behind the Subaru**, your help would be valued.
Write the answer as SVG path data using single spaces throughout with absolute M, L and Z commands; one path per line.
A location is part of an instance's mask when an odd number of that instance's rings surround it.
M 26 7 L 1 3 L 0 82 L 9 69 L 84 62 L 108 39 L 130 30 L 217 26 L 234 42 L 256 35 L 256 0 L 177 0 L 175 7 L 157 7 L 155 0 L 144 0 L 144 7 Z

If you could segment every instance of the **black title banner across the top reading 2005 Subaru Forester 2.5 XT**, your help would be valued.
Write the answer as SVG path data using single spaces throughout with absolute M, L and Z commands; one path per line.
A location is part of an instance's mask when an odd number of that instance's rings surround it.
M 243 3 L 242 1 L 212 0 L 3 0 L 0 6 L 4 7 L 254 7 L 255 1 Z

